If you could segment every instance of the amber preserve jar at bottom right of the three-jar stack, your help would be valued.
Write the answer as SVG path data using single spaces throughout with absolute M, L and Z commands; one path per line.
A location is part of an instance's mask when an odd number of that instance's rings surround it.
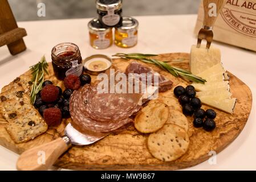
M 123 16 L 121 26 L 115 28 L 115 44 L 122 48 L 136 46 L 139 22 L 129 16 Z

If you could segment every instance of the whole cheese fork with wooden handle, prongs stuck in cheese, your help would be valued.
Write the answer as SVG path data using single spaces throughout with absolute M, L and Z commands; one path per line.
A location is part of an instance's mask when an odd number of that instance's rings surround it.
M 202 40 L 206 40 L 206 49 L 210 48 L 210 44 L 213 41 L 213 26 L 220 15 L 222 8 L 225 6 L 226 0 L 203 0 L 204 6 L 204 22 L 203 27 L 198 33 L 197 48 L 200 48 Z M 215 6 L 216 5 L 216 6 Z M 210 14 L 214 12 L 216 7 L 216 15 Z

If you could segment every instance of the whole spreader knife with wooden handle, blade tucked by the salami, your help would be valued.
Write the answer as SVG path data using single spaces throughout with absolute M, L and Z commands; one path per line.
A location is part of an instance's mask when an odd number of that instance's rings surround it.
M 68 123 L 63 137 L 23 152 L 19 156 L 17 169 L 21 171 L 47 170 L 72 144 L 78 146 L 92 144 L 107 137 L 107 135 L 105 133 L 97 133 L 96 136 L 85 135 L 74 129 L 71 123 Z

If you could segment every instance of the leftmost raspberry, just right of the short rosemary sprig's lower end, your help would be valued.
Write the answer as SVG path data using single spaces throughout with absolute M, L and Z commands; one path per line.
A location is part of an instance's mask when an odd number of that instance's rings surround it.
M 59 97 L 59 89 L 54 85 L 46 85 L 41 91 L 41 98 L 44 102 L 54 102 Z

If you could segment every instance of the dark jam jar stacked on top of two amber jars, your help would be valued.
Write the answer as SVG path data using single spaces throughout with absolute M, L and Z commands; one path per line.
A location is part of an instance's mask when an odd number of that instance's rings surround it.
M 96 0 L 97 14 L 101 23 L 115 27 L 122 22 L 122 0 Z

